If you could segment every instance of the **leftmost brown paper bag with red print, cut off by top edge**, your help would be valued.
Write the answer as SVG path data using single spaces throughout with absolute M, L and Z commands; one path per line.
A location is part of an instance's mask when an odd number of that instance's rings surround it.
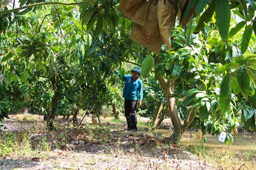
M 131 21 L 144 26 L 151 0 L 121 0 L 119 9 Z

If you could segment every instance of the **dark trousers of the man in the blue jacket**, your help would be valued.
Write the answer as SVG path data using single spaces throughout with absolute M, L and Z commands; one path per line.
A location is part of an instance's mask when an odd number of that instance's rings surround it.
M 124 100 L 124 111 L 128 129 L 137 130 L 137 117 L 136 117 L 137 100 Z

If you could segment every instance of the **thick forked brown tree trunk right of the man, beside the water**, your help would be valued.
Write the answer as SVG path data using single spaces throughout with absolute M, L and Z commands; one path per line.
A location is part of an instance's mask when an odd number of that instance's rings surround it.
M 167 107 L 170 114 L 171 122 L 173 123 L 173 134 L 171 135 L 171 141 L 173 143 L 179 143 L 183 134 L 183 126 L 180 123 L 176 102 L 174 97 L 170 97 L 174 93 L 174 80 L 168 79 L 165 81 L 164 77 L 159 77 L 159 83 L 166 94 Z

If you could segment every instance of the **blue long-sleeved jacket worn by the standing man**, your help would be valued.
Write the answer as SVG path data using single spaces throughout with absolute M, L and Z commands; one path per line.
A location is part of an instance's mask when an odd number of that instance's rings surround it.
M 120 76 L 119 71 L 115 70 L 116 75 Z M 122 79 L 126 81 L 126 85 L 123 90 L 123 98 L 128 100 L 137 100 L 137 96 L 139 94 L 139 100 L 142 101 L 143 91 L 142 91 L 142 82 L 138 78 L 137 80 L 132 79 L 132 75 L 124 75 Z

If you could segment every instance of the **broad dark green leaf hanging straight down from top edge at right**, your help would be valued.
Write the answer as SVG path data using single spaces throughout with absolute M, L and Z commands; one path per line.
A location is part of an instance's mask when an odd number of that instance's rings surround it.
M 228 38 L 230 26 L 230 4 L 228 0 L 216 0 L 215 3 L 216 23 L 222 40 Z

